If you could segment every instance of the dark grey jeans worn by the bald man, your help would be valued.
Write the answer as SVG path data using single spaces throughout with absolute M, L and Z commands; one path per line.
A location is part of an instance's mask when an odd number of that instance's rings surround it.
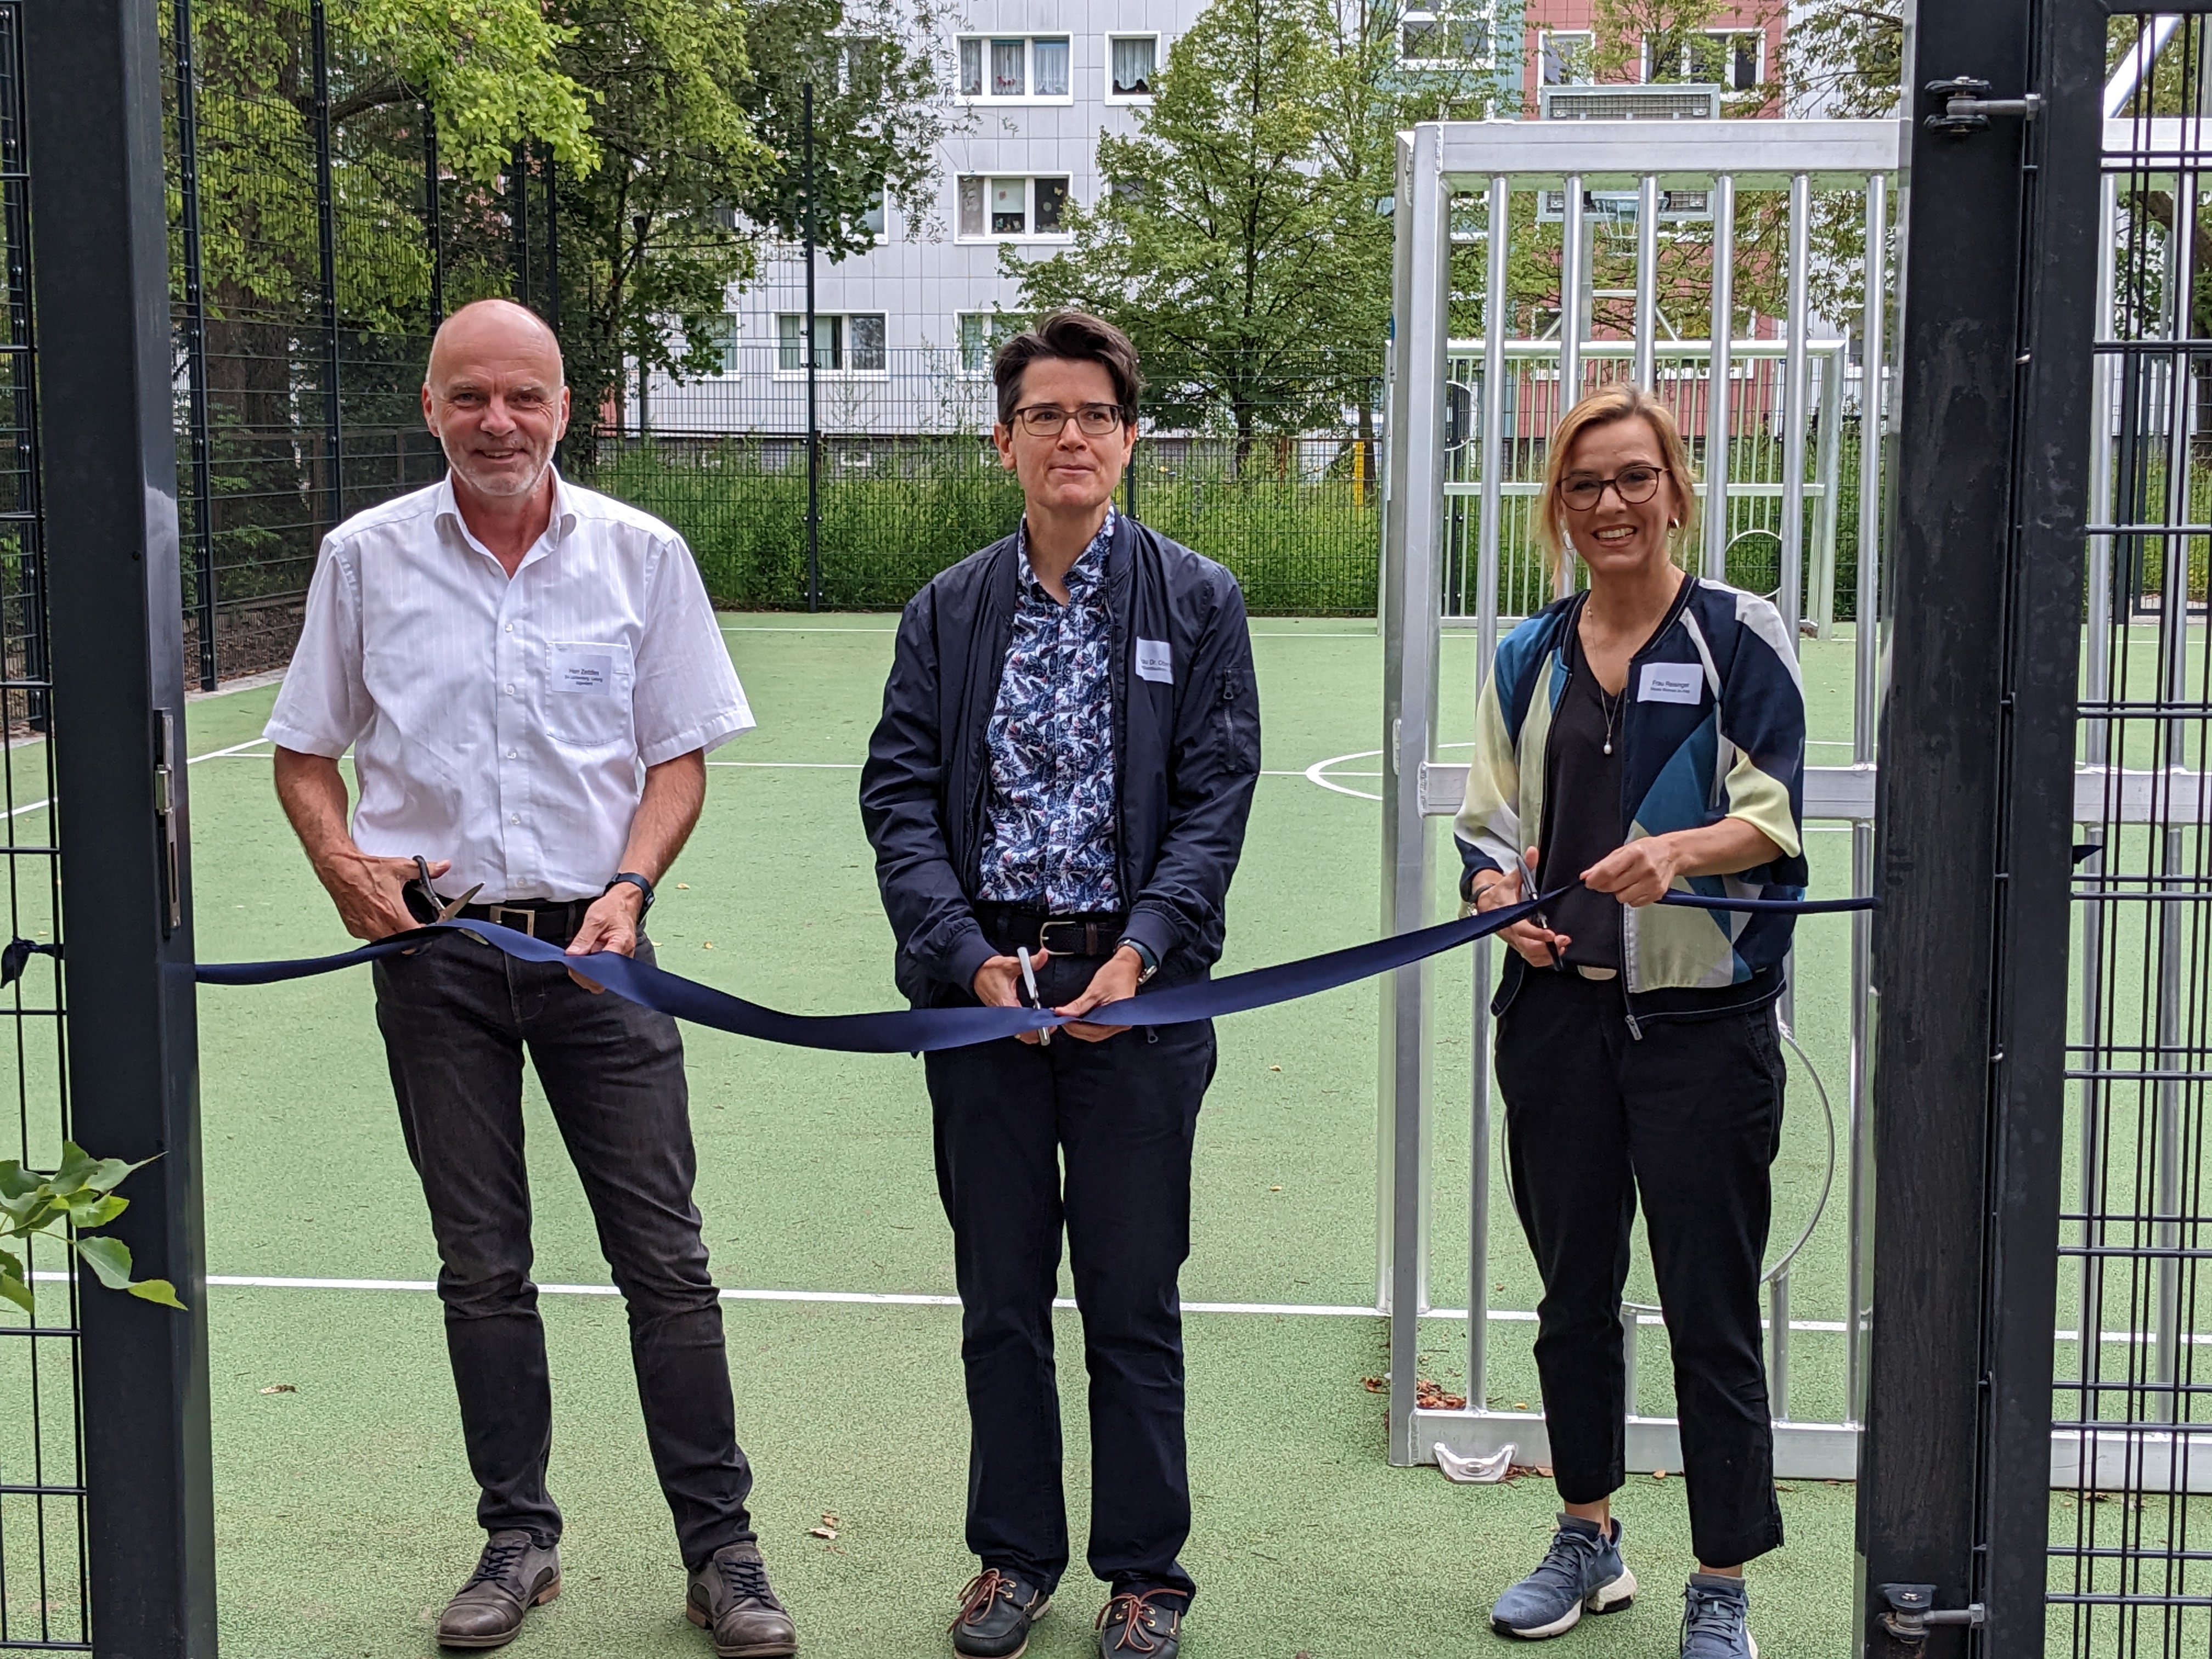
M 637 958 L 653 960 L 639 942 Z M 686 1566 L 752 1540 L 752 1469 L 737 1449 L 721 1301 L 708 1274 L 677 1024 L 566 969 L 449 936 L 376 964 L 407 1157 L 438 1239 L 438 1296 L 487 1531 L 560 1537 L 546 1493 L 553 1387 L 531 1283 L 522 1159 L 529 1044 L 630 1312 L 630 1360 L 653 1467 Z

